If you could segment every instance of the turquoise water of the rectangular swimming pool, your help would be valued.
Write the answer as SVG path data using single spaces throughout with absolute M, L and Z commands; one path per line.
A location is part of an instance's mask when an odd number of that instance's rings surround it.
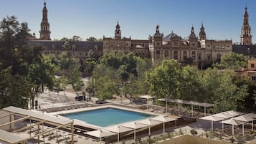
M 84 112 L 76 112 L 63 116 L 69 117 L 70 119 L 82 120 L 92 125 L 106 127 L 110 125 L 116 125 L 118 123 L 130 122 L 133 120 L 141 120 L 146 117 L 151 117 L 153 115 L 115 108 L 105 108 Z

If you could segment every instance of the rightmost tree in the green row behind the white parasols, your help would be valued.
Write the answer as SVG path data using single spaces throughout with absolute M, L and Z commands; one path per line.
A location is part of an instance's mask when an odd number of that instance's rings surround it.
M 239 102 L 247 97 L 247 85 L 237 87 L 234 74 L 231 72 L 219 72 L 217 68 L 207 69 L 203 77 L 204 97 L 209 103 L 216 105 L 215 112 L 225 110 L 237 110 Z

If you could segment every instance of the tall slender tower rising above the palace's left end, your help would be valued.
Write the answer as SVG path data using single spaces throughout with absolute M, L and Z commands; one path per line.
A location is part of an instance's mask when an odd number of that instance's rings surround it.
M 42 10 L 42 22 L 41 22 L 41 30 L 40 30 L 40 39 L 42 40 L 51 40 L 49 31 L 49 22 L 48 22 L 48 16 L 47 16 L 47 8 L 46 3 L 44 1 L 44 8 Z

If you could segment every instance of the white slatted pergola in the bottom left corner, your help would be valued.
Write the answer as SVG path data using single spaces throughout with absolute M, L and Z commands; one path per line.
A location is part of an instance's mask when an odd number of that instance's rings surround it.
M 8 113 L 7 115 L 0 115 L 0 118 L 6 118 L 9 119 L 6 121 L 6 123 L 2 123 L 0 125 L 0 128 L 6 127 L 9 125 L 9 132 L 5 130 L 0 130 L 0 141 L 3 141 L 4 143 L 27 143 L 28 140 L 31 140 L 33 138 L 37 137 L 37 140 L 39 140 L 40 135 L 44 135 L 46 133 L 51 132 L 52 130 L 57 130 L 59 128 L 67 128 L 71 130 L 71 143 L 74 143 L 74 122 L 73 120 L 60 118 L 60 117 L 54 117 L 51 115 L 44 115 L 39 112 L 34 112 L 32 110 L 24 110 L 19 107 L 5 107 L 0 110 L 1 112 Z M 22 118 L 13 120 L 15 116 L 19 116 Z M 9 117 L 9 118 L 8 118 Z M 5 119 L 6 120 L 6 119 Z M 19 123 L 24 120 L 29 120 L 29 125 L 25 126 L 24 128 L 19 128 L 17 130 L 13 130 L 12 125 L 14 123 Z M 32 121 L 35 121 L 37 123 L 33 123 Z M 54 128 L 51 128 L 49 130 L 44 130 L 44 124 L 55 126 Z M 42 130 L 39 129 L 39 126 L 42 125 Z M 23 138 L 19 135 L 16 135 L 16 132 L 22 131 L 22 130 L 30 130 L 31 128 L 37 126 L 37 134 L 31 135 L 29 138 Z

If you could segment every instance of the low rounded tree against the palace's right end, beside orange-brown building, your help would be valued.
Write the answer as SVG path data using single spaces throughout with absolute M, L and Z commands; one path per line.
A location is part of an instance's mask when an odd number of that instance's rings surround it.
M 218 67 L 219 69 L 240 69 L 246 68 L 249 57 L 243 54 L 237 54 L 234 52 L 229 52 L 228 54 L 224 54 L 221 57 L 219 63 L 213 64 L 214 67 Z

